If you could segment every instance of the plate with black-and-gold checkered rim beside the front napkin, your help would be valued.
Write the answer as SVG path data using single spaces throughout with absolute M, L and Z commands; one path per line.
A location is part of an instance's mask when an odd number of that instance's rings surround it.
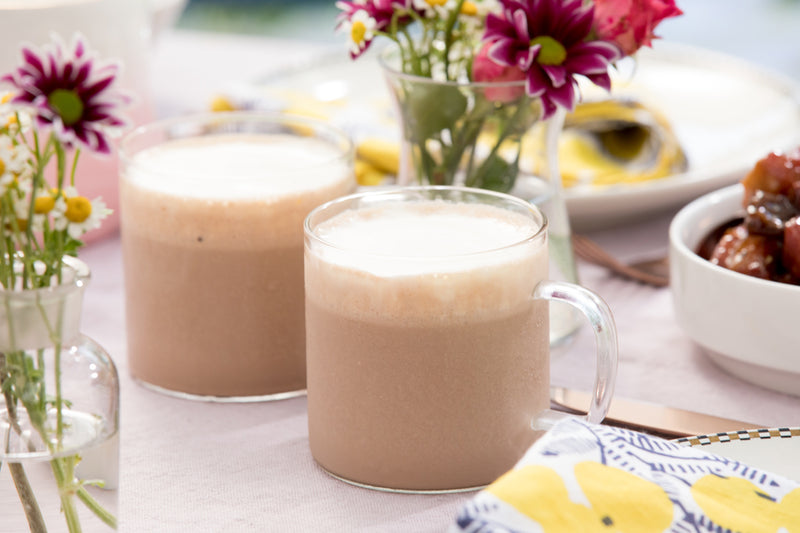
M 750 429 L 676 439 L 800 483 L 800 428 Z

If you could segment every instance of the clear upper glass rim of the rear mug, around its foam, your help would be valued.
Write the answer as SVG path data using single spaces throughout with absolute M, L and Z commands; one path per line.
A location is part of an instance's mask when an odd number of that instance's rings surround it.
M 146 124 L 142 124 L 134 128 L 133 130 L 129 131 L 127 134 L 123 136 L 119 143 L 119 159 L 120 159 L 120 166 L 121 168 L 137 168 L 141 170 L 146 170 L 148 173 L 156 174 L 156 175 L 169 175 L 170 173 L 164 172 L 159 168 L 155 168 L 147 163 L 142 163 L 141 161 L 136 161 L 136 154 L 150 149 L 154 146 L 158 146 L 164 143 L 164 140 L 155 142 L 152 144 L 148 144 L 144 148 L 135 149 L 131 147 L 137 139 L 141 139 L 149 134 L 153 134 L 155 132 L 168 132 L 170 128 L 174 128 L 180 125 L 189 125 L 189 124 L 232 124 L 232 123 L 242 123 L 242 124 L 296 124 L 297 126 L 303 127 L 311 127 L 313 128 L 314 134 L 310 136 L 300 136 L 300 137 L 311 137 L 322 139 L 323 141 L 328 141 L 328 139 L 324 136 L 320 136 L 317 134 L 318 131 L 324 132 L 325 135 L 329 135 L 332 139 L 335 139 L 334 142 L 330 144 L 335 146 L 337 150 L 341 146 L 341 151 L 334 157 L 326 159 L 324 161 L 316 161 L 312 164 L 306 164 L 302 166 L 298 166 L 296 169 L 297 172 L 305 172 L 309 169 L 314 168 L 324 168 L 328 165 L 331 165 L 337 161 L 347 161 L 354 157 L 355 155 L 355 143 L 350 135 L 347 134 L 341 128 L 331 124 L 327 120 L 313 118 L 313 117 L 306 117 L 299 114 L 293 113 L 285 113 L 282 111 L 253 111 L 253 110 L 240 110 L 240 111 L 206 111 L 201 113 L 192 113 L 188 115 L 181 115 L 178 117 L 170 117 L 170 118 L 163 118 L 159 120 L 154 120 L 152 122 L 148 122 Z M 246 132 L 246 133 L 253 133 L 258 134 L 259 132 Z M 213 134 L 213 133 L 212 133 Z M 169 137 L 165 139 L 166 141 L 169 140 L 180 140 L 180 139 L 190 139 L 190 138 L 201 138 L 205 135 L 203 134 L 191 134 L 191 135 L 175 135 L 173 137 Z M 290 170 L 288 173 L 292 173 L 293 171 Z

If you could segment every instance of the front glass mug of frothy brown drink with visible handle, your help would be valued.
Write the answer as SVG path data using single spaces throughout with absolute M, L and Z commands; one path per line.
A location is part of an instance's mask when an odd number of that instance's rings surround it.
M 588 419 L 613 394 L 608 307 L 547 281 L 547 222 L 486 190 L 408 187 L 351 195 L 305 222 L 309 445 L 344 481 L 398 492 L 485 486 L 549 411 L 548 301 L 589 318 L 598 370 Z

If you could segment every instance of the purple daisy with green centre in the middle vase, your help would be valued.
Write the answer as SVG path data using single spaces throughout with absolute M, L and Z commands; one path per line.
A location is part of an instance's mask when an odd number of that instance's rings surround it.
M 557 106 L 573 110 L 577 76 L 611 89 L 609 64 L 621 57 L 606 41 L 592 41 L 594 5 L 582 0 L 499 0 L 501 15 L 489 14 L 483 39 L 489 57 L 526 75 L 526 92 L 542 100 L 543 119 Z

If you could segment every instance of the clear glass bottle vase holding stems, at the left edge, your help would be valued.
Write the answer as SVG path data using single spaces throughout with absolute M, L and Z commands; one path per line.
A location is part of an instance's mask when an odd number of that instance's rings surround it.
M 79 323 L 89 269 L 0 290 L 0 530 L 116 529 L 119 379 Z

